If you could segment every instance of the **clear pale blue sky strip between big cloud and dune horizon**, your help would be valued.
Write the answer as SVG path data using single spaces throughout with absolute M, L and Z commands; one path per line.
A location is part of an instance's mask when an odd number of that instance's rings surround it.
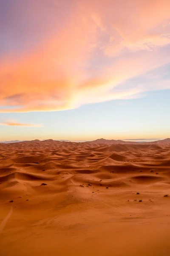
M 42 127 L 1 126 L 0 140 L 95 140 L 170 137 L 170 90 L 140 99 L 89 104 L 74 110 L 13 113 L 23 123 Z M 10 118 L 1 113 L 0 119 Z

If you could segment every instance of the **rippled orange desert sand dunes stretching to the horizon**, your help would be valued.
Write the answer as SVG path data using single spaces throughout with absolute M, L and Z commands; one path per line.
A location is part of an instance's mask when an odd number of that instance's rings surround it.
M 0 255 L 169 256 L 168 195 L 170 139 L 2 143 Z

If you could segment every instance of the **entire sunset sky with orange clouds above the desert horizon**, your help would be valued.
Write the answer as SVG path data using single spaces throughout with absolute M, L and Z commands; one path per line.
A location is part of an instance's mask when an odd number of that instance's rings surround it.
M 0 141 L 170 137 L 170 0 L 0 0 Z

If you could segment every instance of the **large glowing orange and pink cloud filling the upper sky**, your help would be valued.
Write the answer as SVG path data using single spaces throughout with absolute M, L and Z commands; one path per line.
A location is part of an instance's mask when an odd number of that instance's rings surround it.
M 122 87 L 170 62 L 169 0 L 82 0 L 72 8 L 39 47 L 1 58 L 1 113 L 60 111 L 170 89 Z

